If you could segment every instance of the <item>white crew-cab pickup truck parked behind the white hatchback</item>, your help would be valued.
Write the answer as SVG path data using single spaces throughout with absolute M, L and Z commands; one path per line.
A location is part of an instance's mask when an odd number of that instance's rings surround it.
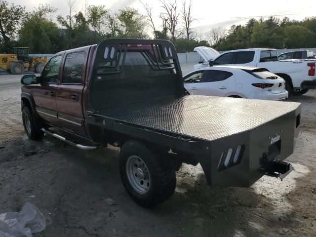
M 197 48 L 196 48 L 197 49 Z M 203 49 L 196 50 L 198 53 Z M 201 54 L 200 54 L 201 55 Z M 201 55 L 202 56 L 202 55 Z M 212 55 L 213 56 L 213 55 Z M 240 65 L 266 68 L 286 82 L 290 94 L 305 94 L 316 88 L 316 59 L 277 60 L 276 49 L 248 48 L 222 53 L 207 63 L 199 63 L 194 69 L 217 65 Z

